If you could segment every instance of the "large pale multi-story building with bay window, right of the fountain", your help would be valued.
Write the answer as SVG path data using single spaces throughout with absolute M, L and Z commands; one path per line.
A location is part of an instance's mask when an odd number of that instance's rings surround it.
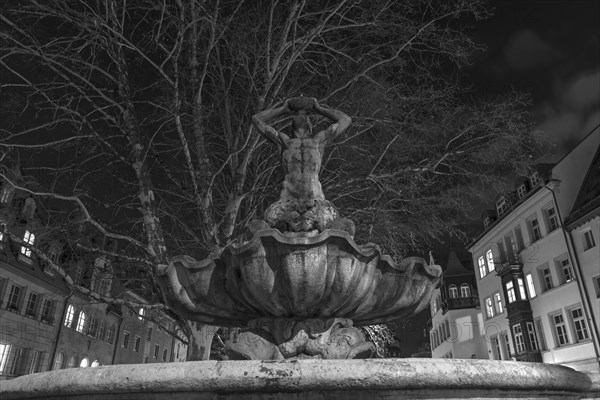
M 557 164 L 539 166 L 483 215 L 485 230 L 470 251 L 490 358 L 598 370 L 598 326 L 582 290 L 592 277 L 582 276 L 564 218 L 573 209 L 599 138 L 596 129 Z M 591 231 L 594 219 L 585 221 L 581 226 L 590 225 Z M 597 274 L 598 258 L 590 254 L 586 273 L 593 273 L 595 262 Z

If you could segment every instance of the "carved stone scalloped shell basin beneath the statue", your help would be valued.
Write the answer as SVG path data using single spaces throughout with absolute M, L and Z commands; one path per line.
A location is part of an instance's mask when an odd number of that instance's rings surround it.
M 158 271 L 167 304 L 181 317 L 245 326 L 257 318 L 349 318 L 384 323 L 418 313 L 441 267 L 411 257 L 399 264 L 348 233 L 283 234 L 264 229 L 203 261 L 174 257 Z

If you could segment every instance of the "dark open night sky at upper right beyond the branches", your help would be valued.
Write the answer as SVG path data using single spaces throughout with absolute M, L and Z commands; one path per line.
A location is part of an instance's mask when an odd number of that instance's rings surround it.
M 530 93 L 547 145 L 539 161 L 556 161 L 600 123 L 600 1 L 490 4 L 495 15 L 474 31 L 487 50 L 468 75 L 483 94 Z

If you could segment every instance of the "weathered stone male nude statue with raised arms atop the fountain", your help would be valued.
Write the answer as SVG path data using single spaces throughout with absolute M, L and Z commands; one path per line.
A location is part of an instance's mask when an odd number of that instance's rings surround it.
M 335 122 L 313 135 L 310 120 L 305 114 L 311 110 Z M 267 121 L 294 112 L 291 137 L 267 124 Z M 350 221 L 339 220 L 334 223 L 338 219 L 337 210 L 325 200 L 319 182 L 325 145 L 350 126 L 350 117 L 341 111 L 322 107 L 314 98 L 296 97 L 286 100 L 281 107 L 254 115 L 252 122 L 263 136 L 282 150 L 281 164 L 285 180 L 279 201 L 265 211 L 267 224 L 281 231 L 307 232 L 317 229 L 321 232 L 336 228 L 351 230 L 350 234 L 353 235 L 354 227 L 349 229 L 346 226 L 351 224 Z

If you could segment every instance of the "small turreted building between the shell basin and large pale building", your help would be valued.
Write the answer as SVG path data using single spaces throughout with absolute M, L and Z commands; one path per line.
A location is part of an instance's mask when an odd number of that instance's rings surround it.
M 487 346 L 470 257 L 451 251 L 444 264 L 444 281 L 431 302 L 429 332 L 432 358 L 487 359 Z M 471 266 L 471 269 L 465 267 Z

